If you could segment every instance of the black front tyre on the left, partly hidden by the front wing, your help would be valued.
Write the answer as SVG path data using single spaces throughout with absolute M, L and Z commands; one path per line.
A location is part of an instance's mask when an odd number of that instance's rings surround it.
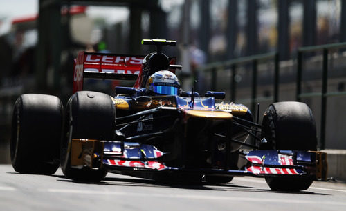
M 116 128 L 116 109 L 107 94 L 100 92 L 76 92 L 66 106 L 66 121 L 61 148 L 61 167 L 69 179 L 100 181 L 107 170 L 102 167 L 90 169 L 71 168 L 71 139 L 112 140 Z M 101 161 L 102 162 L 102 161 Z

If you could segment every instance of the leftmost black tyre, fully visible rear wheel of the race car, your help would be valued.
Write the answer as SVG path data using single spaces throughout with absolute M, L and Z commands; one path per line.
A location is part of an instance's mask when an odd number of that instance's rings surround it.
M 59 168 L 63 106 L 46 94 L 23 94 L 12 116 L 10 154 L 15 171 L 54 174 Z

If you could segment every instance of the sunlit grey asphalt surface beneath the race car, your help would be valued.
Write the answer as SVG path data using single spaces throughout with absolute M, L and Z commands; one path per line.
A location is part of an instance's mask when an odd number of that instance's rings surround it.
M 100 183 L 18 174 L 0 165 L 0 210 L 345 210 L 346 184 L 314 182 L 302 192 L 274 192 L 264 179 L 225 185 L 163 184 L 118 174 Z

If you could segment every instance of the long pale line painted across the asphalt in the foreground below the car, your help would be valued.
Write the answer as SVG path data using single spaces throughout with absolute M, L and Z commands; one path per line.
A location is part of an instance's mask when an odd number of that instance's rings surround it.
M 99 191 L 99 190 L 73 190 L 73 189 L 48 189 L 51 193 L 61 194 L 95 194 L 95 195 L 117 195 L 122 197 L 157 197 L 157 198 L 171 198 L 171 199 L 196 199 L 196 200 L 224 200 L 224 201 L 246 201 L 246 202 L 263 202 L 263 203 L 299 203 L 316 205 L 316 201 L 311 200 L 297 200 L 297 199 L 267 199 L 267 198 L 247 198 L 247 197 L 223 197 L 223 196 L 210 196 L 199 194 L 141 194 L 135 192 L 112 192 L 112 191 Z M 319 201 L 320 205 L 340 205 L 346 206 L 346 202 L 338 201 Z

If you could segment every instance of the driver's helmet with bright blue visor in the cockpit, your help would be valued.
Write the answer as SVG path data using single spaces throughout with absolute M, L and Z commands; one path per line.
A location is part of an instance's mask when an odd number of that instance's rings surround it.
M 180 83 L 173 72 L 161 70 L 149 77 L 146 88 L 153 94 L 176 95 L 179 92 Z

